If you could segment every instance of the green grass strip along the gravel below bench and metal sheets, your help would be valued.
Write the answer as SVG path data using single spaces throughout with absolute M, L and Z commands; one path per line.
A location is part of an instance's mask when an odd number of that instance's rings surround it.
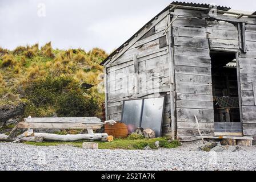
M 98 143 L 99 149 L 125 149 L 125 150 L 142 150 L 146 146 L 149 146 L 152 149 L 157 149 L 155 147 L 155 142 L 159 141 L 159 146 L 162 148 L 176 148 L 181 144 L 174 140 L 169 142 L 167 138 L 153 138 L 153 139 L 114 139 L 113 142 L 99 142 Z M 58 146 L 58 145 L 71 145 L 75 147 L 82 147 L 82 143 L 86 141 L 79 141 L 79 142 L 42 142 L 42 143 L 35 143 L 35 142 L 25 142 L 25 144 L 31 144 L 33 146 Z

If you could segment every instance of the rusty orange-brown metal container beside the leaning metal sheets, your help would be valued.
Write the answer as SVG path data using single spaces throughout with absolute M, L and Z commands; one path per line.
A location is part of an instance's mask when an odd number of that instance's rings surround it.
M 117 122 L 114 125 L 105 125 L 105 133 L 112 135 L 114 138 L 126 138 L 128 129 L 125 123 Z

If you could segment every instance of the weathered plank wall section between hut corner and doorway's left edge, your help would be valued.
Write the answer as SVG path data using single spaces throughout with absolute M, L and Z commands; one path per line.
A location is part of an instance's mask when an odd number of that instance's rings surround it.
M 211 59 L 207 21 L 200 11 L 175 9 L 173 23 L 177 107 L 177 138 L 198 139 L 194 115 L 202 135 L 214 135 Z M 191 18 L 193 16 L 194 18 Z

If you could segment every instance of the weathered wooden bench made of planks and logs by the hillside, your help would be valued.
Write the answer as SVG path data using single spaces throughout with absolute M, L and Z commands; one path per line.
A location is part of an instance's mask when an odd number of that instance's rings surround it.
M 98 134 L 93 132 L 94 129 L 101 129 L 105 123 L 96 117 L 80 118 L 24 118 L 24 122 L 18 123 L 11 131 L 9 140 L 14 139 L 17 129 L 27 129 L 26 137 L 42 136 L 46 140 L 79 140 L 79 139 L 103 139 L 107 134 Z M 55 135 L 46 133 L 34 133 L 33 129 L 87 129 L 88 134 L 80 135 Z M 52 139 L 51 139 L 52 138 Z

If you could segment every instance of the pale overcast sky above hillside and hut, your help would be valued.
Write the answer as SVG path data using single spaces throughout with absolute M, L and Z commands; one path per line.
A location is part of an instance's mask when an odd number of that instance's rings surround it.
M 119 47 L 169 0 L 0 0 L 0 47 L 51 41 L 54 48 Z M 195 0 L 256 11 L 253 0 Z

